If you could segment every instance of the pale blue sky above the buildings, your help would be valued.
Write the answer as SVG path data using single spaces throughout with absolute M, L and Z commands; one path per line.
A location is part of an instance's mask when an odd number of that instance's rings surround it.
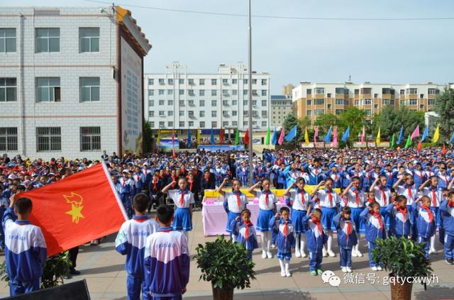
M 43 2 L 4 0 L 6 6 Z M 109 6 L 48 0 L 46 6 Z M 247 13 L 246 0 L 121 0 L 153 44 L 145 72 L 179 61 L 188 72 L 217 72 L 220 63 L 248 62 L 247 18 L 129 7 Z M 454 17 L 454 1 L 253 0 L 253 14 L 321 18 Z M 454 82 L 454 20 L 306 21 L 253 18 L 253 70 L 270 72 L 272 93 L 287 83 Z

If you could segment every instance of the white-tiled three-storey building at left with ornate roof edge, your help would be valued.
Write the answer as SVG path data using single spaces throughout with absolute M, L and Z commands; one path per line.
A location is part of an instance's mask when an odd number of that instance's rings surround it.
M 0 152 L 49 159 L 140 151 L 150 48 L 119 6 L 2 7 Z

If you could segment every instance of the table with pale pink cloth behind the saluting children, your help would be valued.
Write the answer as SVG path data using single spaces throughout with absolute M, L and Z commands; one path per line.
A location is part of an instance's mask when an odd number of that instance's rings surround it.
M 248 202 L 246 208 L 250 210 L 250 221 L 255 226 L 257 224 L 259 213 L 258 201 L 253 201 L 252 198 L 248 198 L 248 200 L 250 201 Z M 227 213 L 224 210 L 223 201 L 216 201 L 216 199 L 204 199 L 203 204 L 204 206 L 201 209 L 201 218 L 204 225 L 204 235 L 228 235 L 228 232 L 226 231 Z M 282 200 L 282 197 L 278 197 L 277 211 L 279 211 L 282 206 L 286 206 L 285 202 Z M 260 235 L 260 232 L 257 234 Z

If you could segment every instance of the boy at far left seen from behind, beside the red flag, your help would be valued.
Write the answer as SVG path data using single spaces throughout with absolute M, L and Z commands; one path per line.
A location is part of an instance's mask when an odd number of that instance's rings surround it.
M 28 221 L 32 207 L 31 199 L 24 197 L 16 199 L 16 195 L 13 195 L 9 209 L 3 216 L 6 274 L 9 277 L 10 296 L 40 289 L 40 277 L 48 257 L 41 229 Z

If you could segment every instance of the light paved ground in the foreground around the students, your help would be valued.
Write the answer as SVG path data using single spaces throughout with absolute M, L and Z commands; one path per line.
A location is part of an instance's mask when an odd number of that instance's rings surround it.
M 67 282 L 79 279 L 87 279 L 87 284 L 92 299 L 126 299 L 126 272 L 124 271 L 124 257 L 115 251 L 115 235 L 106 238 L 105 243 L 99 246 L 82 246 L 77 259 L 77 269 L 81 275 L 67 280 Z M 196 245 L 214 237 L 205 238 L 201 225 L 201 213 L 194 213 L 194 231 L 189 234 L 190 250 L 195 252 Z M 362 242 L 362 252 L 367 249 Z M 441 250 L 441 245 L 437 245 Z M 308 272 L 307 258 L 292 257 L 290 264 L 292 277 L 282 278 L 279 274 L 279 262 L 262 260 L 261 252 L 254 253 L 253 260 L 256 263 L 255 271 L 257 279 L 253 281 L 250 289 L 235 292 L 235 299 L 265 300 L 265 299 L 390 299 L 388 286 L 382 284 L 386 272 L 376 272 L 374 277 L 367 275 L 372 273 L 368 268 L 367 255 L 353 257 L 353 278 L 358 284 L 345 284 L 343 274 L 339 267 L 338 257 L 323 257 L 323 270 L 333 270 L 341 277 L 339 287 L 331 287 L 328 283 L 323 284 L 320 276 L 313 277 Z M 439 282 L 428 286 L 423 290 L 421 284 L 414 284 L 413 299 L 454 299 L 454 266 L 447 265 L 443 259 L 443 252 L 432 256 L 434 274 Z M 4 255 L 0 261 L 4 260 Z M 187 294 L 184 299 L 208 300 L 212 299 L 211 284 L 199 282 L 200 272 L 196 269 L 195 262 L 191 265 L 191 275 Z M 380 278 L 379 278 L 380 277 Z M 380 280 L 380 283 L 372 280 Z M 364 283 L 361 283 L 364 280 Z M 0 284 L 0 296 L 8 296 L 5 284 Z

